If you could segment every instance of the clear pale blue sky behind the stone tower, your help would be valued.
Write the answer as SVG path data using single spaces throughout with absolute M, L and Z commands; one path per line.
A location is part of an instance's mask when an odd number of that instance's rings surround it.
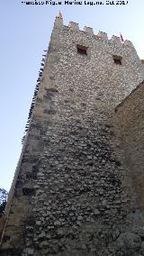
M 41 55 L 48 48 L 59 10 L 66 25 L 73 21 L 79 23 L 81 30 L 85 25 L 90 26 L 94 34 L 107 32 L 109 38 L 121 32 L 124 39 L 133 42 L 140 59 L 144 59 L 144 0 L 129 0 L 128 5 L 99 6 L 64 5 L 64 0 L 61 1 L 61 6 L 23 5 L 21 0 L 0 1 L 0 187 L 7 190 L 11 187 L 22 150 L 21 140 Z

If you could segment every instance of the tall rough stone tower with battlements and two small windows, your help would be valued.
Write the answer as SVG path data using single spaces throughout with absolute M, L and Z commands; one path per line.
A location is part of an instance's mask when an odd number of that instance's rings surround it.
M 5 209 L 0 255 L 144 255 L 144 231 L 131 230 L 144 224 L 144 205 L 115 116 L 143 79 L 130 41 L 65 26 L 58 15 Z

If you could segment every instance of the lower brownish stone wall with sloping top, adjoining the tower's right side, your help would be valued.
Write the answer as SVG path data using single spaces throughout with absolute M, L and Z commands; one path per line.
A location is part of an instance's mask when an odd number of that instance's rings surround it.
M 144 82 L 118 105 L 116 121 L 121 149 L 125 151 L 123 163 L 129 169 L 132 187 L 139 208 L 144 210 Z M 121 131 L 121 132 L 120 132 Z M 119 133 L 120 132 L 120 133 Z

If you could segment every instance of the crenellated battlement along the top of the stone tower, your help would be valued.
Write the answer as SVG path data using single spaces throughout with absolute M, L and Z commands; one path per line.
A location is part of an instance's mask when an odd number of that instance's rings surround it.
M 57 28 L 67 27 L 68 29 L 73 30 L 73 31 L 90 33 L 91 35 L 96 36 L 97 40 L 108 41 L 110 43 L 117 44 L 117 45 L 119 45 L 121 47 L 128 46 L 128 47 L 133 47 L 134 48 L 134 46 L 133 46 L 131 41 L 126 40 L 126 41 L 124 41 L 122 43 L 121 42 L 121 38 L 119 36 L 112 35 L 112 38 L 109 39 L 106 32 L 100 32 L 99 31 L 97 34 L 94 34 L 93 28 L 87 27 L 87 26 L 84 27 L 84 30 L 80 30 L 79 29 L 79 24 L 78 23 L 74 23 L 74 22 L 69 22 L 68 26 L 66 26 L 63 23 L 62 17 L 56 17 L 55 27 L 57 27 Z

